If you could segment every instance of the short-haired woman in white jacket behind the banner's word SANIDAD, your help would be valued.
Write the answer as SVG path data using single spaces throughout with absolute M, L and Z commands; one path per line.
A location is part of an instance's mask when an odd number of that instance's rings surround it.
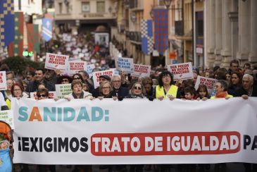
M 72 93 L 65 96 L 65 99 L 70 101 L 70 99 L 92 99 L 92 94 L 89 92 L 85 92 L 83 89 L 83 83 L 80 80 L 73 80 L 71 82 L 71 90 Z

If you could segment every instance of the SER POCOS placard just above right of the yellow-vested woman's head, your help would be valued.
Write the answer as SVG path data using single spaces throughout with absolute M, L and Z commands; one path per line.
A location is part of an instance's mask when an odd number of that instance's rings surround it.
M 168 71 L 173 73 L 173 80 L 194 79 L 192 63 L 178 63 L 168 65 Z

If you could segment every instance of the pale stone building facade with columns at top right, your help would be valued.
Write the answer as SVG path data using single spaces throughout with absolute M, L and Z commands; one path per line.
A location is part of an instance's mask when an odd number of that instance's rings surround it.
M 206 65 L 257 63 L 257 1 L 205 1 Z

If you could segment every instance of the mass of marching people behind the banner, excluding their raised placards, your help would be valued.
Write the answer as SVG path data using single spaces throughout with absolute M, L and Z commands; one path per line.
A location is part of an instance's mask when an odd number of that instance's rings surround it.
M 67 35 L 62 36 L 67 37 Z M 108 55 L 108 49 L 95 45 L 92 41 L 84 42 L 82 35 L 70 38 L 64 46 L 51 47 L 51 53 L 67 54 L 74 59 L 82 59 L 90 63 L 96 63 L 94 71 L 106 70 L 113 67 L 111 57 Z M 96 48 L 99 46 L 98 48 Z M 84 55 L 83 55 L 84 54 Z M 89 58 L 88 58 L 89 57 Z M 0 93 L 1 110 L 11 109 L 11 97 L 30 98 L 30 92 L 37 92 L 38 99 L 48 99 L 49 91 L 55 91 L 56 84 L 71 84 L 72 93 L 65 96 L 65 99 L 113 99 L 113 101 L 122 101 L 123 99 L 184 99 L 195 101 L 208 101 L 208 99 L 232 97 L 257 97 L 256 69 L 251 68 L 250 63 L 244 63 L 239 68 L 239 61 L 232 60 L 230 68 L 194 68 L 194 79 L 173 80 L 173 74 L 165 68 L 153 68 L 149 77 L 133 77 L 130 74 L 120 72 L 120 75 L 108 75 L 99 77 L 99 87 L 94 88 L 94 82 L 86 71 L 81 70 L 74 75 L 61 73 L 60 70 L 49 70 L 45 68 L 28 68 L 23 78 L 17 78 L 13 71 L 6 71 L 7 90 Z M 206 78 L 215 78 L 213 95 L 208 94 L 206 85 L 199 85 L 196 90 L 194 85 L 196 78 L 201 75 Z M 256 165 L 244 164 L 246 171 L 257 171 Z M 68 166 L 69 168 L 70 166 Z M 220 171 L 223 165 L 216 167 Z M 23 170 L 27 171 L 26 165 L 22 165 Z M 100 166 L 108 168 L 109 171 L 124 171 L 126 166 Z M 143 171 L 143 168 L 149 169 L 151 166 L 131 165 L 130 171 Z M 159 166 L 161 171 L 165 171 L 167 166 Z M 196 168 L 196 166 L 193 166 Z M 199 165 L 201 171 L 208 171 L 209 167 Z M 55 171 L 54 166 L 49 168 Z M 181 170 L 192 170 L 192 166 L 182 166 Z M 18 170 L 17 170 L 18 171 Z M 46 166 L 39 166 L 39 171 L 46 171 Z M 73 171 L 92 171 L 91 166 L 75 166 Z

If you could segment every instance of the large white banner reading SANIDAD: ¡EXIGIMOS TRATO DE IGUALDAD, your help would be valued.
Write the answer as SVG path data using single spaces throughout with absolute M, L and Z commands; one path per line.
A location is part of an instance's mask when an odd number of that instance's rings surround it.
M 257 163 L 257 98 L 11 102 L 15 163 Z

